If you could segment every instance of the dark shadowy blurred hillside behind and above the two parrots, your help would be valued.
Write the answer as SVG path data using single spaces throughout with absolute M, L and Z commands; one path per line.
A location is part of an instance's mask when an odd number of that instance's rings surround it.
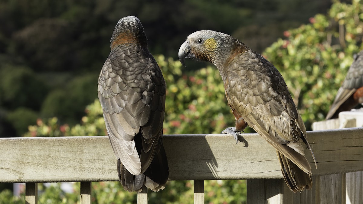
M 152 54 L 178 56 L 192 32 L 217 30 L 244 39 L 258 52 L 282 31 L 330 0 L 186 1 L 0 1 L 0 136 L 21 136 L 8 114 L 26 107 L 40 118 L 57 117 L 73 126 L 97 94 L 94 87 L 110 53 L 110 38 L 122 17 L 139 17 Z M 226 23 L 228 22 L 228 23 Z M 283 23 L 282 23 L 283 22 Z M 203 64 L 192 64 L 190 70 Z M 92 77 L 93 76 L 93 77 Z

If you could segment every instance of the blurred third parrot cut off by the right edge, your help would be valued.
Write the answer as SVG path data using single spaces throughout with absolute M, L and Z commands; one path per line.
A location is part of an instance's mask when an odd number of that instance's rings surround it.
M 354 61 L 335 96 L 326 119 L 338 118 L 340 112 L 350 111 L 359 103 L 363 103 L 363 51 L 354 55 Z

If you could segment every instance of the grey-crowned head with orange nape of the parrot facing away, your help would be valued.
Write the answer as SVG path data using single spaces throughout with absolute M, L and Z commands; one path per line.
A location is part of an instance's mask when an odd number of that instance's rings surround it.
M 147 46 L 147 38 L 140 20 L 135 16 L 123 17 L 115 26 L 111 37 L 111 49 L 121 44 Z

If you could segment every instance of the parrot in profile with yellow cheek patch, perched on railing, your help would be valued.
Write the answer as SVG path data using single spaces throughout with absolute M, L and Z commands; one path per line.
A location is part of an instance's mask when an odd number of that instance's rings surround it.
M 276 149 L 282 175 L 291 191 L 311 189 L 311 167 L 303 145 L 313 158 L 314 154 L 280 72 L 241 41 L 212 30 L 200 30 L 187 37 L 179 49 L 179 60 L 184 66 L 185 58 L 211 62 L 219 70 L 236 119 L 236 126 L 223 133 L 233 135 L 238 142 L 237 132 L 249 125 Z

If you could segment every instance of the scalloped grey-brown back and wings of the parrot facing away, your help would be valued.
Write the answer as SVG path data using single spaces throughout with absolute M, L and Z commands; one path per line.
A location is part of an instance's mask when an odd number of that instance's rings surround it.
M 111 146 L 117 159 L 121 160 L 121 166 L 130 173 L 123 173 L 124 181 L 127 177 L 143 174 L 160 151 L 165 89 L 160 68 L 146 48 L 119 45 L 103 65 L 98 97 Z M 142 137 L 139 148 L 135 147 L 137 136 Z M 140 178 L 136 176 L 136 180 Z M 128 186 L 127 190 L 131 192 L 138 190 L 136 187 L 140 184 Z

